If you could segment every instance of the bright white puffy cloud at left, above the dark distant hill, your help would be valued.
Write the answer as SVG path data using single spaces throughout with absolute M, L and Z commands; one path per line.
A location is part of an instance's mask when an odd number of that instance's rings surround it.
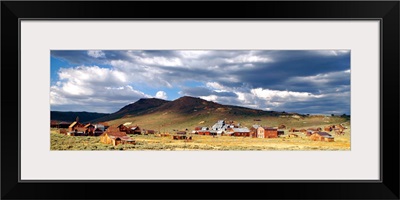
M 59 81 L 50 87 L 52 109 L 113 112 L 140 98 L 151 97 L 128 85 L 127 76 L 117 70 L 79 66 L 62 68 L 58 75 Z

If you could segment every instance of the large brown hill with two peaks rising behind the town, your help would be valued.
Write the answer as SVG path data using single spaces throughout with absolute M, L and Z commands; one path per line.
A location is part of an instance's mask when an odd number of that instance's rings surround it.
M 142 129 L 171 132 L 191 130 L 196 126 L 212 126 L 217 120 L 233 120 L 251 127 L 253 124 L 289 127 L 303 127 L 327 124 L 297 113 L 263 111 L 239 106 L 230 106 L 206 101 L 200 98 L 184 96 L 174 101 L 161 99 L 140 99 L 119 111 L 96 121 L 108 121 L 110 125 L 131 122 Z M 342 122 L 342 118 L 332 118 L 329 123 Z

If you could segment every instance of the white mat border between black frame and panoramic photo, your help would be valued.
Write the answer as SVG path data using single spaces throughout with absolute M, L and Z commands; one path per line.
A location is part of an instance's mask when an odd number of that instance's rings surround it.
M 380 180 L 380 25 L 379 20 L 21 20 L 21 181 Z M 52 49 L 350 49 L 351 150 L 50 151 Z M 372 117 L 365 118 L 366 108 Z M 254 165 L 268 170 L 251 170 Z M 79 170 L 88 166 L 96 167 Z M 336 170 L 343 166 L 346 171 Z M 131 173 L 102 173 L 113 167 Z

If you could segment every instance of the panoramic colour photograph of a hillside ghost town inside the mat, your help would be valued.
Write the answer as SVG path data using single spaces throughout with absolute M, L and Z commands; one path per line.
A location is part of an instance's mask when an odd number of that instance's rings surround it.
M 350 50 L 51 50 L 52 151 L 350 151 Z

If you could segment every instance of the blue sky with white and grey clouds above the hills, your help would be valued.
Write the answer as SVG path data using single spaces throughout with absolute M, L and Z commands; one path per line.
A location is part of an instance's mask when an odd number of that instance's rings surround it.
M 349 50 L 52 50 L 52 111 L 113 113 L 140 98 L 200 97 L 350 114 Z

